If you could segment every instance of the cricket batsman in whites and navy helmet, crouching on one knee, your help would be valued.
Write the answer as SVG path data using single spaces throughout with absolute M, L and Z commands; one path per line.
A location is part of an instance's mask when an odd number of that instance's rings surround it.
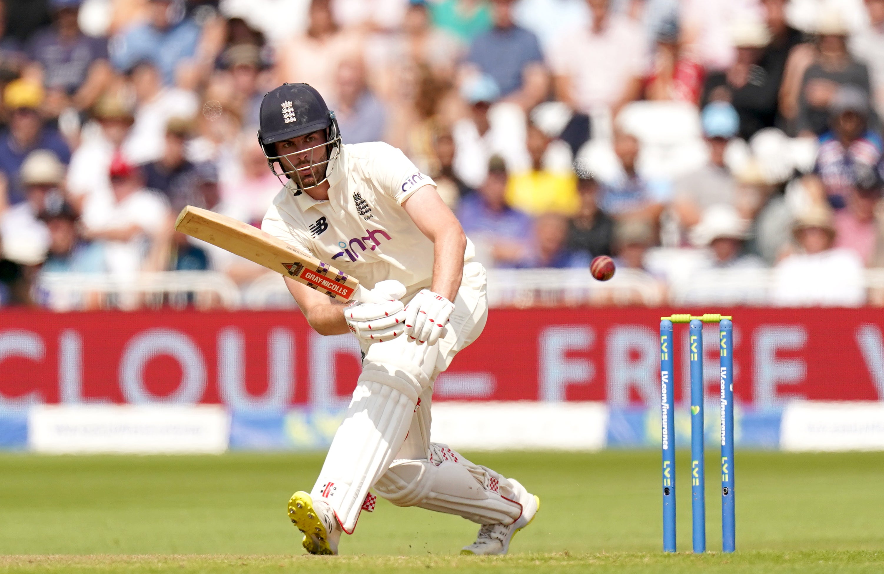
M 335 555 L 369 489 L 398 506 L 481 524 L 462 554 L 506 554 L 540 499 L 513 478 L 431 442 L 433 381 L 485 325 L 485 271 L 436 184 L 382 142 L 344 145 L 323 97 L 307 84 L 264 96 L 258 141 L 283 182 L 263 230 L 353 275 L 382 302 L 334 302 L 286 284 L 317 333 L 353 333 L 362 374 L 309 493 L 288 502 L 310 554 Z

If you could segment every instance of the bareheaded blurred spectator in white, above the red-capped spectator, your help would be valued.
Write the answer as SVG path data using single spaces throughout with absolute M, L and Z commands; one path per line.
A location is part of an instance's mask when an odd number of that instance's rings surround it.
M 156 65 L 134 65 L 129 81 L 137 104 L 126 159 L 146 164 L 163 155 L 166 124 L 171 118 L 193 118 L 199 102 L 193 92 L 163 85 Z

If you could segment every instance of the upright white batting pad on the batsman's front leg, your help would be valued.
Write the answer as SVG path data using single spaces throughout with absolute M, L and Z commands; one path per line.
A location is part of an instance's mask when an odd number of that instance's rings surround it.
M 369 488 L 392 463 L 408 434 L 417 395 L 360 378 L 335 432 L 323 470 L 310 496 L 328 502 L 347 534 L 352 534 Z

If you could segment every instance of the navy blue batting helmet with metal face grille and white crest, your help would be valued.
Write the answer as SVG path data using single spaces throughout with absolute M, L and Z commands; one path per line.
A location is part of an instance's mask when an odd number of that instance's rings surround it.
M 334 112 L 323 96 L 308 84 L 283 84 L 264 94 L 259 113 L 258 142 L 271 172 L 280 181 L 283 176 L 302 189 L 316 188 L 328 180 L 328 165 L 340 148 L 340 130 Z M 324 142 L 306 149 L 279 155 L 275 142 L 324 130 Z M 323 153 L 324 151 L 324 153 Z M 307 181 L 312 178 L 312 181 Z M 285 181 L 283 181 L 285 183 Z

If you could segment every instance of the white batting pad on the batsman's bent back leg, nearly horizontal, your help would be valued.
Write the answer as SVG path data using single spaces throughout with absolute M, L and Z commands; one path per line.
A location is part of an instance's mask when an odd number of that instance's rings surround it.
M 513 524 L 526 493 L 497 472 L 470 463 L 445 445 L 432 443 L 429 460 L 395 460 L 375 484 L 397 506 L 455 514 L 478 524 Z

